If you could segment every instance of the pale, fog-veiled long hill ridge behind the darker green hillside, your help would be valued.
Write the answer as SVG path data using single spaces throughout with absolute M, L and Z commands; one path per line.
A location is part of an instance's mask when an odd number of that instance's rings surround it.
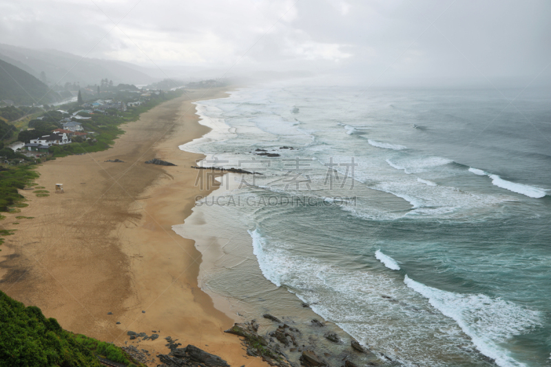
M 149 84 L 155 81 L 143 72 L 143 67 L 132 63 L 82 58 L 56 50 L 32 50 L 0 43 L 0 59 L 18 65 L 37 78 L 44 72 L 48 83 L 58 85 L 76 82 L 94 85 L 103 78 L 112 80 L 114 84 Z

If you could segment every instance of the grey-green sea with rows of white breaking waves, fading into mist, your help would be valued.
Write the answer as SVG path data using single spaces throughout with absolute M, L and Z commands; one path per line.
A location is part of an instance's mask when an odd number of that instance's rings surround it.
M 217 233 L 191 235 L 218 251 L 201 286 L 241 315 L 284 290 L 406 366 L 551 366 L 550 95 L 280 82 L 200 101 L 213 130 L 180 149 L 262 175 L 174 230 Z

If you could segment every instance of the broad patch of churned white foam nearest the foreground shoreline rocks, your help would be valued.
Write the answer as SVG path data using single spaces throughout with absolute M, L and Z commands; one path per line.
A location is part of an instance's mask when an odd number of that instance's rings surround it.
M 397 283 L 391 273 L 329 265 L 309 256 L 293 255 L 292 244 L 272 242 L 258 229 L 249 234 L 267 280 L 285 286 L 309 303 L 315 313 L 335 322 L 360 343 L 368 340 L 371 350 L 412 367 L 444 367 L 447 360 L 457 358 L 477 360 L 469 352 L 475 346 L 459 326 L 431 311 L 423 297 Z M 438 340 L 447 342 L 435 344 Z

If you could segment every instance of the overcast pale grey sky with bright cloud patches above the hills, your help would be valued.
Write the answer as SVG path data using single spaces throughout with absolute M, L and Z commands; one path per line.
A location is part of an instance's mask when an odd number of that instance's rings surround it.
M 551 74 L 549 0 L 0 0 L 0 43 L 149 67 Z

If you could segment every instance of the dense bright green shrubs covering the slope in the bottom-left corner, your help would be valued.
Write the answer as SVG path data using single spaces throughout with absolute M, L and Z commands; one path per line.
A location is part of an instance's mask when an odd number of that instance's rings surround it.
M 0 367 L 100 367 L 96 355 L 127 366 L 138 364 L 121 348 L 65 331 L 40 308 L 25 307 L 0 291 Z

